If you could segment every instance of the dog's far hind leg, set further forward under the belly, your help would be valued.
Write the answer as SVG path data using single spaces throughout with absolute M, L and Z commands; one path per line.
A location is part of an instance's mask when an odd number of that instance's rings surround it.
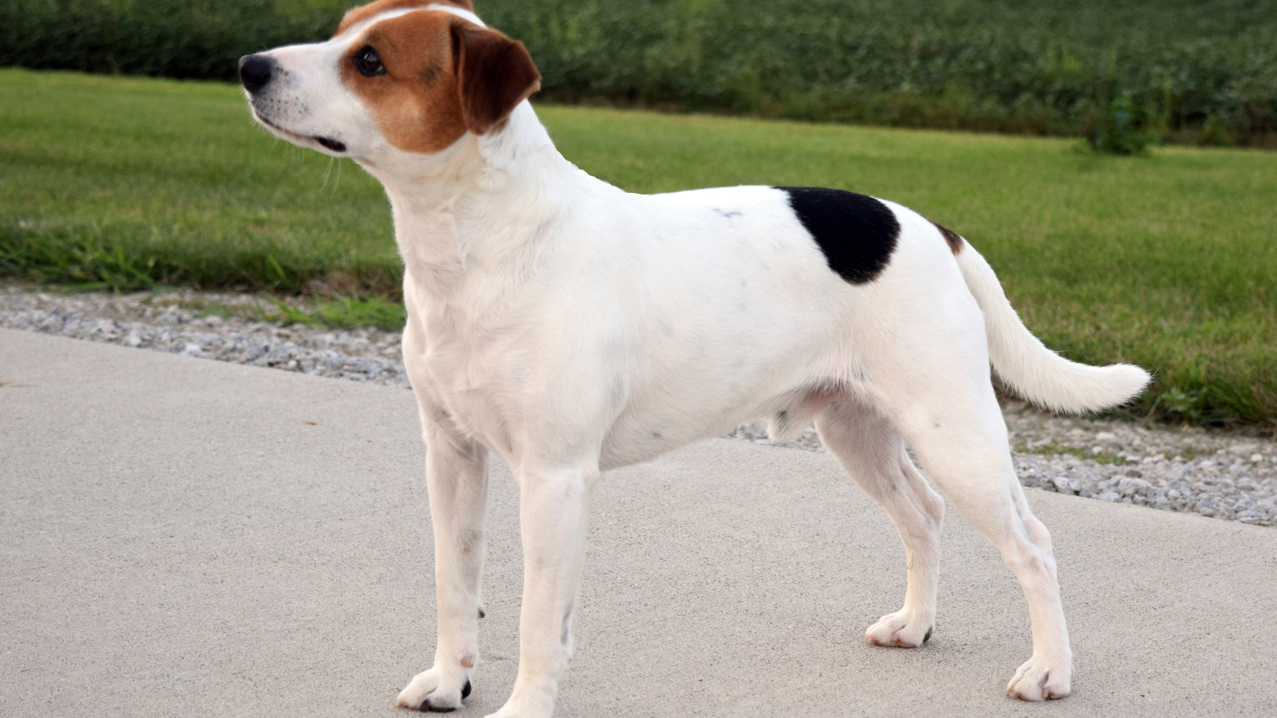
M 904 542 L 909 577 L 904 608 L 870 626 L 865 639 L 917 648 L 935 629 L 944 501 L 918 474 L 900 433 L 872 408 L 854 399 L 838 401 L 816 416 L 816 429 L 843 469 L 882 503 Z

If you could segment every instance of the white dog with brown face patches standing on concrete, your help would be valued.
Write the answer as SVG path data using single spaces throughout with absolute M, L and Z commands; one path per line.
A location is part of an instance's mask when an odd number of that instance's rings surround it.
M 836 189 L 630 194 L 554 148 L 527 98 L 540 73 L 467 0 L 378 0 L 326 41 L 248 55 L 253 116 L 349 157 L 389 197 L 404 259 L 404 362 L 420 405 L 434 529 L 434 666 L 396 701 L 453 710 L 483 617 L 487 461 L 520 492 L 518 675 L 489 718 L 548 717 L 600 471 L 769 420 L 815 423 L 908 552 L 876 645 L 917 648 L 936 613 L 940 496 L 1024 588 L 1033 654 L 1006 690 L 1070 691 L 1051 538 L 1015 478 L 990 365 L 1019 395 L 1089 411 L 1139 393 L 1139 367 L 1043 346 L 988 263 L 899 204 Z

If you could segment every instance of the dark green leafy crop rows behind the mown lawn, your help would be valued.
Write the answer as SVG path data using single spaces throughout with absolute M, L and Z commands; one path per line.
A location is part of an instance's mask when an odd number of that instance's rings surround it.
M 234 79 L 342 0 L 8 0 L 0 65 Z M 810 120 L 1277 144 L 1277 3 L 478 0 L 543 97 Z M 1103 142 L 1102 139 L 1099 142 Z

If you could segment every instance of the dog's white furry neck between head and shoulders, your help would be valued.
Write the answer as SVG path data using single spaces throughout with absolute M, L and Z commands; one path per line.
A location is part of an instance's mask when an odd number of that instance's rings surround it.
M 559 155 L 527 102 L 485 135 L 368 170 L 389 197 L 407 279 L 435 305 L 476 272 L 526 270 L 567 211 L 571 185 L 598 181 Z

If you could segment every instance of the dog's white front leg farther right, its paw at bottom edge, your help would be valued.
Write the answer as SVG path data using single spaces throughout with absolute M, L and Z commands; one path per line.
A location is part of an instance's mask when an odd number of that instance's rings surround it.
M 547 718 L 572 655 L 572 609 L 598 471 L 521 469 L 516 478 L 524 537 L 518 676 L 510 700 L 488 718 Z

